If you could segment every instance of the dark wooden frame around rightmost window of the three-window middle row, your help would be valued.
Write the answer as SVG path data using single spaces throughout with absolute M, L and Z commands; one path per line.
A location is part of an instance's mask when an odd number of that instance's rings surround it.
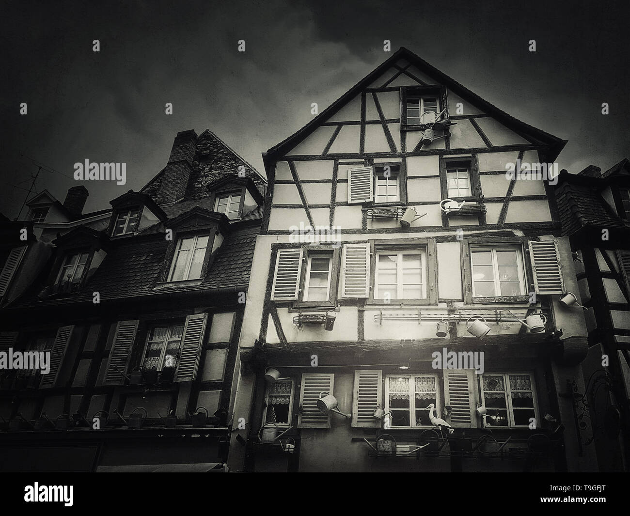
M 525 294 L 474 297 L 471 246 L 496 247 L 501 245 L 520 246 Z M 529 302 L 530 292 L 535 290 L 527 237 L 464 238 L 461 244 L 461 264 L 464 271 L 464 302 L 467 304 Z

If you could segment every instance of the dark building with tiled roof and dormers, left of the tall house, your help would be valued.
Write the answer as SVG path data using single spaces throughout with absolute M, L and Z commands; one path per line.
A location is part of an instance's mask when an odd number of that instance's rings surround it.
M 112 209 L 81 215 L 88 192 L 79 185 L 63 205 L 38 194 L 30 221 L 1 225 L 0 284 L 15 295 L 3 298 L 0 348 L 52 358 L 49 374 L 0 373 L 0 469 L 195 471 L 226 462 L 265 185 L 212 132 L 189 130 L 164 169 Z M 191 418 L 198 407 L 207 424 Z M 95 415 L 108 416 L 100 429 Z

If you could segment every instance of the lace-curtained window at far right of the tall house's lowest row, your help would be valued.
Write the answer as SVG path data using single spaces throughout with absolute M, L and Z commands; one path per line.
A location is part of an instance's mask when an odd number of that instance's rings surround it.
M 538 420 L 536 387 L 530 373 L 490 373 L 481 377 L 486 427 L 529 427 Z

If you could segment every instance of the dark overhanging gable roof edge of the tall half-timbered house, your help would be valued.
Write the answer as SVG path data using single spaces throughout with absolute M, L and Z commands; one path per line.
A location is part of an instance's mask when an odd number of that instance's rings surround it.
M 294 134 L 290 135 L 287 139 L 283 140 L 276 146 L 269 149 L 267 152 L 263 153 L 263 158 L 265 161 L 269 158 L 270 155 L 284 153 L 292 149 L 295 145 L 301 142 L 304 138 L 306 138 L 309 134 L 311 134 L 315 129 L 319 127 L 322 122 L 328 120 L 329 117 L 335 115 L 348 101 L 352 100 L 358 93 L 360 93 L 364 88 L 367 88 L 377 77 L 381 76 L 381 74 L 389 67 L 391 67 L 396 61 L 404 58 L 414 64 L 420 71 L 425 72 L 429 76 L 438 81 L 440 84 L 444 84 L 448 88 L 452 89 L 457 95 L 461 96 L 464 100 L 468 100 L 471 105 L 479 108 L 483 112 L 487 113 L 489 116 L 496 118 L 496 120 L 502 122 L 506 127 L 512 129 L 513 131 L 525 135 L 529 137 L 529 139 L 534 139 L 540 141 L 542 144 L 550 146 L 550 155 L 547 156 L 549 161 L 553 161 L 556 159 L 560 151 L 566 145 L 567 140 L 563 140 L 554 136 L 553 134 L 549 134 L 541 129 L 537 129 L 536 127 L 529 125 L 517 118 L 508 115 L 508 113 L 500 110 L 495 105 L 492 105 L 490 102 L 483 100 L 480 96 L 476 95 L 469 89 L 462 86 L 462 84 L 455 81 L 451 77 L 447 76 L 444 72 L 439 71 L 437 68 L 428 64 L 427 61 L 421 59 L 418 55 L 411 52 L 404 47 L 400 47 L 392 56 L 386 61 L 382 62 L 379 66 L 377 66 L 372 72 L 367 74 L 363 79 L 361 79 L 357 84 L 352 86 L 352 88 L 348 89 L 346 93 L 340 96 L 335 102 L 328 106 L 323 112 L 319 113 L 315 118 L 311 120 L 311 122 L 307 123 L 302 127 L 302 129 L 298 130 Z

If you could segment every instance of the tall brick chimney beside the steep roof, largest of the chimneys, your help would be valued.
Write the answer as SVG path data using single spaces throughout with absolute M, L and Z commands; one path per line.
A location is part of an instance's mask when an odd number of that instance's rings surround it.
M 174 202 L 184 197 L 196 149 L 197 133 L 194 130 L 178 132 L 157 192 L 158 204 Z

